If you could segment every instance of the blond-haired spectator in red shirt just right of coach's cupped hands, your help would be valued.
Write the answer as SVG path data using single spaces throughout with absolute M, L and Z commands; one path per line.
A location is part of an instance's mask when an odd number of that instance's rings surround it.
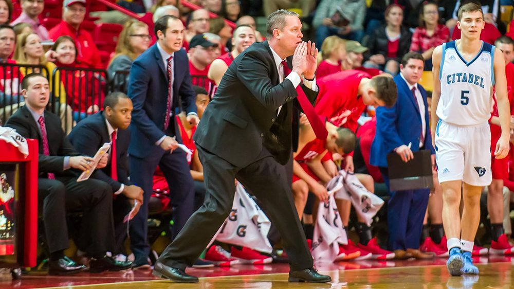
M 337 35 L 325 38 L 321 45 L 321 57 L 318 59 L 321 61 L 316 69 L 318 78 L 342 71 L 342 62 L 346 59 L 344 40 Z

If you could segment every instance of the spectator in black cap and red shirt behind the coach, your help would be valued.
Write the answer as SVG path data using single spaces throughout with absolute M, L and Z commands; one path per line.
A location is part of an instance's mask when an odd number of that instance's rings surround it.
M 199 34 L 191 39 L 188 52 L 191 82 L 193 85 L 204 87 L 209 95 L 211 95 L 214 82 L 207 78 L 207 74 L 209 66 L 214 60 L 214 50 L 217 46 L 216 43 L 207 40 L 204 34 Z

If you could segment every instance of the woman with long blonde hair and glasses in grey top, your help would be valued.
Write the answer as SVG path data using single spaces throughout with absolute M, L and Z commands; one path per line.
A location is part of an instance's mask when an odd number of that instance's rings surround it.
M 109 63 L 107 74 L 116 91 L 126 93 L 128 74 L 118 71 L 130 70 L 132 62 L 150 46 L 148 25 L 140 21 L 128 21 L 121 31 L 115 55 Z

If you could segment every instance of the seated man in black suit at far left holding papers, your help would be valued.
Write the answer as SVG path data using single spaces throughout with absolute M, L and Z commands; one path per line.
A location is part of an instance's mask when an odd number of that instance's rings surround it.
M 25 76 L 22 81 L 25 106 L 7 120 L 6 126 L 25 138 L 39 141 L 38 198 L 50 251 L 49 274 L 71 274 L 85 268 L 64 256 L 64 250 L 69 247 L 67 210 L 83 211 L 80 239 L 91 257 L 90 272 L 130 268 L 131 262 L 118 262 L 106 255 L 114 247 L 112 189 L 98 179 L 77 182 L 81 171 L 94 169 L 93 158 L 79 155 L 61 129 L 59 117 L 45 111 L 50 95 L 48 86 L 48 80 L 41 74 Z M 106 164 L 107 155 L 97 168 Z

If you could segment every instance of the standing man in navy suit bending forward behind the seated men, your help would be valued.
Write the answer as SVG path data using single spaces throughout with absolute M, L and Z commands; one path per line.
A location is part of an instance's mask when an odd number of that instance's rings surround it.
M 174 116 L 177 110 L 186 111 L 187 121 L 196 125 L 199 120 L 188 57 L 182 49 L 184 26 L 177 17 L 165 15 L 157 20 L 154 31 L 157 42 L 132 64 L 127 93 L 134 104 L 128 147 L 131 181 L 144 191 L 143 205 L 130 231 L 136 267 L 149 267 L 146 220 L 157 166 L 170 184 L 175 234 L 193 213 L 194 202 L 186 153 L 177 149 L 181 139 Z

